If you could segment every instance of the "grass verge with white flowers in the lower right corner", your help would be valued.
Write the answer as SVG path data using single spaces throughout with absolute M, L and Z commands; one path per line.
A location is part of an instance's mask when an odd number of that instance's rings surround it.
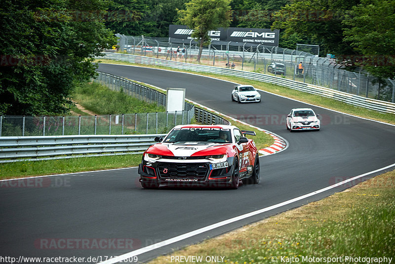
M 172 263 L 171 256 L 202 256 L 203 260 L 206 256 L 223 256 L 230 264 L 369 263 L 346 260 L 346 256 L 391 258 L 395 256 L 394 184 L 395 171 L 376 176 L 150 264 Z M 328 262 L 323 258 L 337 259 Z

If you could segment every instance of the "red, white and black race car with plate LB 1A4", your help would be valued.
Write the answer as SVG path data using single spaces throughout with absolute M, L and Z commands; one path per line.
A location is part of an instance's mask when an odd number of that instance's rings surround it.
M 143 188 L 159 184 L 213 185 L 238 188 L 259 182 L 259 156 L 252 139 L 235 126 L 182 125 L 144 152 L 139 165 Z

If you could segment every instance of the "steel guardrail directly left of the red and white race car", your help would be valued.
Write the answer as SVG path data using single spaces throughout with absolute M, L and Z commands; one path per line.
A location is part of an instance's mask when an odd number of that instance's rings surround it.
M 0 163 L 141 154 L 160 135 L 4 136 Z

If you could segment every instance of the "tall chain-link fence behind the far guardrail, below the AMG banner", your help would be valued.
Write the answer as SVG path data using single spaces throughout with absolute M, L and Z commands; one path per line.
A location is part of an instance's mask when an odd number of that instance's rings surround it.
M 117 36 L 119 52 L 196 63 L 198 44 L 194 40 Z M 177 52 L 178 47 L 181 52 Z M 200 64 L 254 71 L 367 98 L 395 101 L 394 80 L 346 71 L 334 59 L 320 58 L 300 50 L 213 41 L 203 49 Z

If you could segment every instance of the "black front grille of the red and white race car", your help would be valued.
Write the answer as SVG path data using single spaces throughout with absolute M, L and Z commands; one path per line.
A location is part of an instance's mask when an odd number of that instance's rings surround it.
M 201 163 L 167 163 L 158 165 L 159 175 L 162 178 L 173 179 L 204 179 L 208 166 Z

